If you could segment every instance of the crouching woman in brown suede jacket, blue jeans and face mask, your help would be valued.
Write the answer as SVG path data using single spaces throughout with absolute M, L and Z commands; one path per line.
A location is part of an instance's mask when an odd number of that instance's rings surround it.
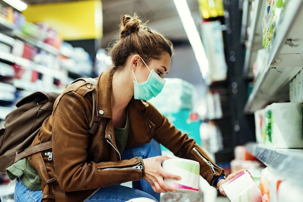
M 196 160 L 200 174 L 219 188 L 224 170 L 160 114 L 149 100 L 161 92 L 170 69 L 172 43 L 151 31 L 136 15 L 123 16 L 120 38 L 109 48 L 113 67 L 97 80 L 97 111 L 101 122 L 88 135 L 92 114 L 91 85 L 77 82 L 56 100 L 32 145 L 52 140 L 52 149 L 28 158 L 42 179 L 33 190 L 17 178 L 15 201 L 121 202 L 136 197 L 160 201 L 160 193 L 175 192 L 164 178 L 180 176 L 163 170 L 159 143 L 174 155 Z M 165 103 L 163 103 L 165 105 Z M 121 186 L 133 181 L 133 188 Z M 39 188 L 36 188 L 39 189 Z M 224 194 L 223 190 L 220 192 Z

